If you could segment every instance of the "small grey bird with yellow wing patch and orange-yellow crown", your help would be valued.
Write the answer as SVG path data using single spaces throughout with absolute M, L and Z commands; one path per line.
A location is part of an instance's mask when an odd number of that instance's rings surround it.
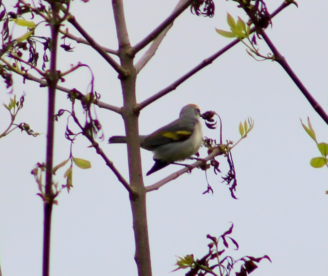
M 154 153 L 154 166 L 150 175 L 176 161 L 190 158 L 198 152 L 203 139 L 200 109 L 195 104 L 184 106 L 179 118 L 155 130 L 149 135 L 140 135 L 140 147 Z M 126 143 L 126 136 L 112 136 L 111 143 Z

